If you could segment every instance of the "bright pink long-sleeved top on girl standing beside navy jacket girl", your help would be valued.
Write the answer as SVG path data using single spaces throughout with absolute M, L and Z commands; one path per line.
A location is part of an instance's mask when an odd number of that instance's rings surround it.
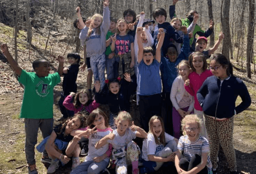
M 198 111 L 202 111 L 202 107 L 200 106 L 197 100 L 197 90 L 201 88 L 205 79 L 207 79 L 207 77 L 210 77 L 210 76 L 212 76 L 212 72 L 210 70 L 205 70 L 200 75 L 195 72 L 192 72 L 189 74 L 189 79 L 190 79 L 189 86 L 184 85 L 184 88 L 187 90 L 187 92 L 189 92 L 191 96 L 194 96 L 194 99 L 195 99 L 194 108 Z

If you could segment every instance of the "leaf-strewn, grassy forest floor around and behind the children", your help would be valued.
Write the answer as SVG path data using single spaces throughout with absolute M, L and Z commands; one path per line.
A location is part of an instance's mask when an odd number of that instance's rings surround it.
M 70 31 L 71 32 L 71 31 Z M 36 30 L 33 31 L 33 41 L 29 48 L 24 40 L 26 34 L 20 31 L 18 35 L 18 62 L 19 65 L 27 70 L 32 71 L 31 62 L 40 58 L 44 53 L 47 36 L 40 35 Z M 48 33 L 46 30 L 43 33 Z M 0 44 L 8 43 L 10 53 L 14 57 L 13 46 L 13 28 L 0 24 Z M 67 50 L 66 50 L 67 48 Z M 66 42 L 59 42 L 58 38 L 50 37 L 48 50 L 45 58 L 51 63 L 52 72 L 56 72 L 58 63 L 54 56 L 63 55 L 72 52 L 75 48 L 73 44 L 68 45 Z M 51 52 L 49 51 L 51 50 Z M 54 53 L 53 53 L 54 52 Z M 66 57 L 66 54 L 64 55 Z M 239 173 L 256 173 L 256 75 L 252 78 L 246 77 L 246 71 L 241 70 L 241 63 L 232 61 L 236 68 L 234 75 L 243 79 L 250 92 L 252 103 L 251 106 L 234 117 L 233 144 L 236 150 L 237 171 Z M 65 63 L 65 66 L 68 66 Z M 245 66 L 244 66 L 245 67 Z M 87 88 L 86 86 L 87 71 L 79 71 L 77 77 L 78 89 Z M 58 108 L 58 100 L 62 92 L 62 83 L 54 88 L 54 119 L 61 117 Z M 20 107 L 23 99 L 23 88 L 17 82 L 12 69 L 6 63 L 4 57 L 0 54 L 0 173 L 26 173 L 27 164 L 24 153 L 24 119 L 19 118 Z M 237 103 L 241 99 L 237 100 Z M 135 124 L 138 125 L 138 107 L 136 103 L 131 103 L 131 115 Z M 38 142 L 41 142 L 41 133 L 38 133 Z M 37 168 L 39 173 L 47 173 L 47 168 L 40 162 L 41 154 L 35 151 Z M 83 158 L 80 158 L 83 161 Z M 219 153 L 218 173 L 229 173 L 225 156 L 221 151 Z M 60 168 L 56 173 L 69 173 L 71 165 Z M 168 173 L 168 169 L 161 169 L 157 173 Z

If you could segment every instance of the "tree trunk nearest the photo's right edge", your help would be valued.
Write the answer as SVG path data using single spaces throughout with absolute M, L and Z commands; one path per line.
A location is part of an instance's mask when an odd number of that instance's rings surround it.
M 253 39 L 254 39 L 254 13 L 255 13 L 255 0 L 248 0 L 249 5 L 249 22 L 248 22 L 248 35 L 247 35 L 247 50 L 246 50 L 246 67 L 247 77 L 251 78 L 251 59 L 253 59 Z

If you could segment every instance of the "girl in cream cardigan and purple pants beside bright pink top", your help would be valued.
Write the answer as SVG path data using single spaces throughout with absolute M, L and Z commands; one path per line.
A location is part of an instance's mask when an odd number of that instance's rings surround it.
M 189 79 L 190 66 L 189 61 L 182 60 L 177 69 L 179 76 L 175 78 L 170 90 L 170 100 L 172 101 L 172 125 L 173 135 L 177 139 L 180 137 L 180 121 L 186 115 L 189 115 L 194 108 L 194 97 L 184 88 L 184 83 Z

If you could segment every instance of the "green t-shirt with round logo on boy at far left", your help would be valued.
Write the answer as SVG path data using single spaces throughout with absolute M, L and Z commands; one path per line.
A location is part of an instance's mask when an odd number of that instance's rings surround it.
M 59 73 L 38 77 L 22 70 L 19 82 L 25 86 L 20 118 L 47 119 L 54 115 L 54 86 L 61 82 Z

